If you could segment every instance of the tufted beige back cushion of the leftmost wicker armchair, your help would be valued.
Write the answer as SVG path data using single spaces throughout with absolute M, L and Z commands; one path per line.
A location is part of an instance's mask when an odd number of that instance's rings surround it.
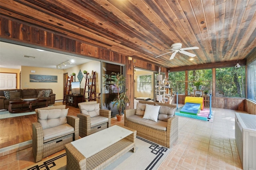
M 38 122 L 43 129 L 57 127 L 67 123 L 68 109 L 38 109 Z

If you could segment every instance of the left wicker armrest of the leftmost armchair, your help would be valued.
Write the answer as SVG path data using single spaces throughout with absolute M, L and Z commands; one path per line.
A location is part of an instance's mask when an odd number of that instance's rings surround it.
M 44 136 L 42 125 L 38 122 L 32 123 L 32 152 L 35 162 L 43 158 Z

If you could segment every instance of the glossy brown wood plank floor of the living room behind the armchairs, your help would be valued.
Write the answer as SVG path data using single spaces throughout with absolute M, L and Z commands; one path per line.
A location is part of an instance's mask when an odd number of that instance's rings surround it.
M 63 103 L 56 102 L 54 106 L 57 105 Z M 69 108 L 68 115 L 76 116 L 79 113 L 78 107 L 66 105 L 66 108 Z M 32 140 L 32 123 L 36 121 L 36 114 L 0 119 L 0 148 Z

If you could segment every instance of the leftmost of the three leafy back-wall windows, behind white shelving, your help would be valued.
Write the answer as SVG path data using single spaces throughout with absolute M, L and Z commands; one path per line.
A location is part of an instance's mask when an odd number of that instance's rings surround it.
M 178 91 L 178 94 L 185 94 L 185 82 L 178 82 L 177 89 L 177 81 L 185 81 L 185 71 L 170 72 L 168 77 L 173 93 Z

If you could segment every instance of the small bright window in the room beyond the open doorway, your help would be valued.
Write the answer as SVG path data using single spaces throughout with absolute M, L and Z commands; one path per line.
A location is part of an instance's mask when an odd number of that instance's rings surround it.
M 151 91 L 152 90 L 152 78 L 151 75 L 138 75 L 138 91 Z

